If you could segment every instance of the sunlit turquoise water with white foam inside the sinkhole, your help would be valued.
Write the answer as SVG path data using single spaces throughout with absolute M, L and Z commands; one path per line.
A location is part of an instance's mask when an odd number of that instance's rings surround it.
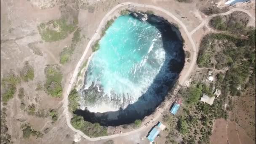
M 119 16 L 99 45 L 89 62 L 84 89 L 93 85 L 112 102 L 97 99 L 89 104 L 82 99 L 82 109 L 87 107 L 91 112 L 115 111 L 136 102 L 166 59 L 160 31 L 129 15 Z

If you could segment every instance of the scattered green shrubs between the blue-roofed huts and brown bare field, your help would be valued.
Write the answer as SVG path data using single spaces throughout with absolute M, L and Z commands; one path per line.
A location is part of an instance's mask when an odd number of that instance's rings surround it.
M 208 88 L 202 83 L 192 84 L 189 88 L 182 87 L 177 96 L 183 97 L 184 101 L 189 101 L 191 96 L 194 97 L 195 90 L 200 91 L 197 93 L 205 93 Z M 163 115 L 163 121 L 166 123 L 168 131 L 165 144 L 175 143 L 175 139 L 179 138 L 177 132 L 181 133 L 181 143 L 209 143 L 214 120 L 228 117 L 227 112 L 223 109 L 223 99 L 224 97 L 215 99 L 213 105 L 204 104 L 199 99 L 190 104 L 185 102 L 181 105 L 178 114 L 171 115 L 168 112 Z M 176 127 L 173 123 L 177 123 Z

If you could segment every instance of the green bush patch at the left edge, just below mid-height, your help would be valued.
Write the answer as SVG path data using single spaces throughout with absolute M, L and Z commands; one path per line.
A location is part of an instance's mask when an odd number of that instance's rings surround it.
M 14 93 L 16 92 L 16 85 L 20 83 L 19 76 L 15 75 L 14 73 L 8 73 L 2 79 L 2 101 L 7 102 L 13 98 Z

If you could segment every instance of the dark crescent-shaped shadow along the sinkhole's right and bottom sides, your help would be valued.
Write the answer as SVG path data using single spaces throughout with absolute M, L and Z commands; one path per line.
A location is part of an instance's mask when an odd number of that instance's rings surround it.
M 145 13 L 132 12 L 130 15 L 141 20 Z M 183 39 L 179 29 L 165 20 L 163 17 L 147 13 L 147 22 L 157 27 L 162 35 L 163 48 L 165 49 L 165 61 L 156 75 L 152 85 L 133 104 L 129 104 L 125 109 L 114 112 L 89 112 L 87 109 L 77 109 L 74 114 L 83 116 L 84 120 L 91 123 L 100 123 L 105 126 L 117 126 L 133 123 L 136 119 L 143 119 L 152 114 L 155 108 L 164 101 L 168 91 L 171 90 L 179 77 L 179 73 L 184 67 Z M 168 57 L 168 56 L 171 56 Z M 85 75 L 86 76 L 86 75 Z M 154 97 L 149 96 L 155 94 Z M 111 118 L 115 117 L 115 118 Z

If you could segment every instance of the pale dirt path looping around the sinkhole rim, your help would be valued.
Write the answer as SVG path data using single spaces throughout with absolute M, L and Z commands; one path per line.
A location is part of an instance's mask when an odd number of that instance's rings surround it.
M 76 80 L 76 77 L 77 77 L 77 73 L 79 72 L 79 68 L 81 66 L 81 63 L 83 62 L 83 59 L 85 58 L 89 48 L 91 48 L 91 44 L 93 43 L 93 41 L 95 40 L 95 38 L 97 36 L 99 36 L 99 32 L 101 30 L 101 28 L 104 26 L 107 18 L 109 17 L 110 14 L 112 14 L 114 11 L 117 10 L 117 8 L 120 8 L 120 7 L 123 7 L 125 5 L 132 5 L 132 6 L 136 6 L 136 7 L 143 7 L 143 8 L 152 8 L 152 9 L 155 9 L 157 11 L 161 11 L 165 14 L 167 14 L 168 16 L 170 16 L 172 19 L 174 19 L 175 21 L 177 21 L 179 23 L 179 25 L 182 27 L 182 29 L 184 29 L 184 32 L 186 33 L 190 43 L 192 44 L 192 48 L 193 48 L 193 57 L 192 57 L 192 61 L 190 63 L 190 66 L 189 66 L 189 69 L 187 70 L 186 74 L 182 77 L 180 77 L 179 79 L 179 84 L 183 84 L 185 80 L 187 80 L 187 77 L 189 76 L 189 74 L 191 73 L 191 71 L 193 70 L 193 68 L 195 67 L 195 64 L 196 64 L 196 46 L 195 46 L 195 43 L 191 37 L 191 35 L 197 31 L 200 27 L 202 27 L 207 21 L 203 21 L 199 26 L 197 26 L 194 30 L 192 30 L 192 32 L 188 32 L 187 30 L 187 27 L 182 23 L 182 21 L 180 21 L 176 16 L 174 16 L 172 13 L 170 13 L 169 11 L 166 11 L 165 9 L 163 8 L 160 8 L 160 7 L 157 7 L 157 6 L 154 6 L 154 5 L 145 5 L 145 4 L 139 4 L 139 3 L 132 3 L 132 2 L 126 2 L 126 3 L 120 3 L 118 5 L 116 5 L 114 8 L 112 8 L 111 11 L 109 11 L 105 16 L 104 18 L 101 20 L 100 24 L 99 24 L 99 27 L 97 28 L 95 34 L 93 35 L 93 37 L 91 38 L 91 40 L 88 42 L 88 45 L 86 46 L 85 48 L 85 51 L 83 53 L 83 56 L 81 57 L 81 59 L 78 61 L 77 63 L 77 66 L 75 67 L 75 70 L 74 70 L 74 73 L 72 75 L 72 78 L 71 78 L 71 81 L 68 85 L 68 88 L 66 89 L 66 91 L 64 92 L 64 99 L 63 99 L 63 107 L 64 107 L 64 115 L 66 116 L 66 120 L 67 120 L 67 125 L 69 126 L 70 129 L 72 129 L 72 131 L 80 134 L 81 136 L 83 136 L 85 139 L 89 140 L 89 141 L 98 141 L 98 140 L 102 140 L 102 139 L 111 139 L 111 138 L 115 138 L 115 137 L 119 137 L 119 136 L 128 136 L 130 134 L 133 134 L 133 133 L 137 133 L 139 131 L 142 131 L 144 130 L 145 128 L 147 128 L 145 125 L 141 126 L 140 128 L 134 130 L 134 131 L 130 131 L 130 132 L 127 132 L 127 133 L 120 133 L 120 134 L 115 134 L 115 135 L 110 135 L 110 136 L 101 136 L 101 137 L 97 137 L 97 138 L 90 138 L 89 136 L 86 136 L 82 131 L 79 131 L 77 129 L 75 129 L 71 123 L 70 123 L 70 120 L 71 120 L 71 113 L 69 112 L 68 110 L 68 95 L 69 95 L 69 92 L 71 91 L 71 88 L 72 88 L 72 85 L 73 83 L 75 82 Z M 246 10 L 243 10 L 243 9 L 239 9 L 238 8 L 235 8 L 237 11 L 246 11 Z M 232 13 L 234 10 L 230 10 L 226 13 L 221 13 L 223 15 L 226 15 L 226 14 L 229 14 L 229 13 Z M 249 16 L 251 16 L 251 14 L 246 11 L 245 13 L 248 13 Z M 253 17 L 253 16 L 251 16 Z M 255 18 L 254 18 L 255 20 Z M 168 101 L 168 103 L 165 104 L 165 106 L 163 108 L 159 108 L 157 112 L 155 112 L 155 117 L 153 118 L 153 121 L 157 121 L 157 119 L 160 117 L 161 115 L 161 111 L 165 108 L 168 107 L 168 104 L 171 103 L 172 101 Z M 151 127 L 153 124 L 150 123 L 149 127 Z

